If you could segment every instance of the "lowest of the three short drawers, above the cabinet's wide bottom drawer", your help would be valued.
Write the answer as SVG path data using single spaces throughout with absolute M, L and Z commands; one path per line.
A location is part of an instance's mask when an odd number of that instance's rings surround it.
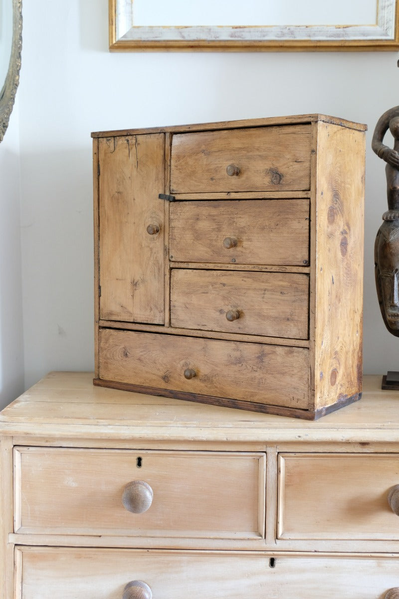
M 307 339 L 309 277 L 172 270 L 172 326 Z

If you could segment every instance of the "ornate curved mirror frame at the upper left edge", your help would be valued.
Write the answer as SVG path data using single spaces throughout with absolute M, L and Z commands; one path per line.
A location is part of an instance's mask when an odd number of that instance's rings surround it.
M 11 0 L 10 0 L 11 2 Z M 5 75 L 4 85 L 0 92 L 0 141 L 5 131 L 13 110 L 17 87 L 19 84 L 19 71 L 21 68 L 22 50 L 22 0 L 13 2 L 13 37 L 11 41 L 11 56 L 8 71 Z M 0 81 L 0 85 L 2 81 Z

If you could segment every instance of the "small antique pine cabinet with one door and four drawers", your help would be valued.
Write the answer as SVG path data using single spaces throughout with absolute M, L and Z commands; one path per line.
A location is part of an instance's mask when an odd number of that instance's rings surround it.
M 365 131 L 93 133 L 95 385 L 303 419 L 360 399 Z

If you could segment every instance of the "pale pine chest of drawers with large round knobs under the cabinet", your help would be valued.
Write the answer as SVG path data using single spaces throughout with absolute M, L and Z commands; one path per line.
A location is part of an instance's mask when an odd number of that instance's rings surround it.
M 0 414 L 2 599 L 399 599 L 399 392 L 318 422 L 50 373 Z

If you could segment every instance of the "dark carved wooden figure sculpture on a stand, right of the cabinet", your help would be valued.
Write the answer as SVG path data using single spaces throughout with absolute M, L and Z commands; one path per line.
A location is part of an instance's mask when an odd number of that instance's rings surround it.
M 394 137 L 393 149 L 383 144 L 388 129 Z M 399 337 L 399 106 L 379 118 L 371 147 L 386 162 L 388 199 L 388 210 L 382 215 L 374 246 L 377 297 L 386 328 Z M 388 372 L 382 388 L 399 389 L 399 372 Z

